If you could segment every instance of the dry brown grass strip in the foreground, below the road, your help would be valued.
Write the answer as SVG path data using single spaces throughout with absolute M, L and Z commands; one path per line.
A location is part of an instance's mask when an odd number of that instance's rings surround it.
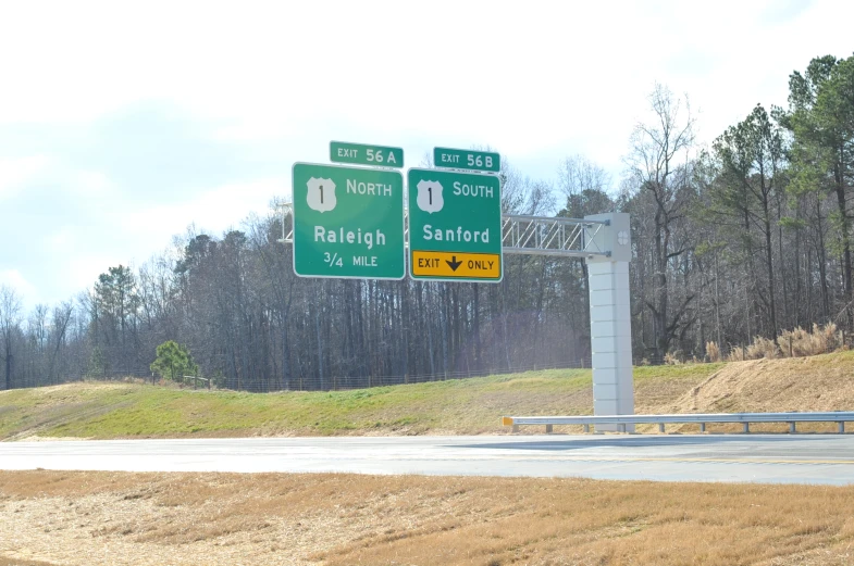
M 832 487 L 0 473 L 0 565 L 842 565 L 852 508 Z

